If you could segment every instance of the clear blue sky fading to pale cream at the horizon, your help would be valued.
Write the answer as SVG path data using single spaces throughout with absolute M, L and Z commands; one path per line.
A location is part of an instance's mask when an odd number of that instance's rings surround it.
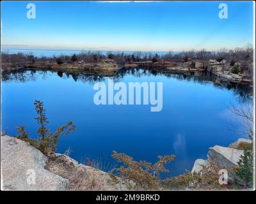
M 28 19 L 28 3 L 36 18 Z M 219 18 L 220 3 L 228 18 Z M 1 1 L 1 44 L 119 51 L 217 50 L 253 43 L 253 1 Z

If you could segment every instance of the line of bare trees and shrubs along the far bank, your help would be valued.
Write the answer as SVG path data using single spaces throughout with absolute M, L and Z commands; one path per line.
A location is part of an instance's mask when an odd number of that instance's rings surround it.
M 24 54 L 19 52 L 17 54 L 9 54 L 8 52 L 1 52 L 1 61 L 10 63 L 19 62 L 53 62 L 56 61 L 59 64 L 67 62 L 72 63 L 76 61 L 83 62 L 99 62 L 102 60 L 113 60 L 118 65 L 124 65 L 129 62 L 141 62 L 141 61 L 191 61 L 191 60 L 209 60 L 216 59 L 222 61 L 225 59 L 228 62 L 248 61 L 253 62 L 253 46 L 248 44 L 244 47 L 237 47 L 234 49 L 221 48 L 218 51 L 202 50 L 188 50 L 182 52 L 168 52 L 166 54 L 159 54 L 154 52 L 133 52 L 131 54 L 125 52 L 107 52 L 101 51 L 81 51 L 78 54 L 73 55 L 52 55 L 51 57 L 36 57 L 32 52 Z

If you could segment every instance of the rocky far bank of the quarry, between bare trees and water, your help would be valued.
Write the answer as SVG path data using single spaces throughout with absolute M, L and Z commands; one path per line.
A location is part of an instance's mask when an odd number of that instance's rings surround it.
M 227 63 L 225 59 L 222 61 L 217 61 L 210 59 L 209 61 L 145 61 L 145 62 L 129 62 L 125 63 L 124 66 L 118 66 L 112 59 L 106 59 L 97 62 L 64 62 L 62 64 L 57 64 L 56 62 L 45 61 L 45 62 L 22 62 L 22 63 L 2 63 L 1 72 L 15 71 L 19 69 L 34 69 L 39 71 L 63 71 L 66 73 L 93 73 L 99 76 L 114 77 L 116 73 L 122 68 L 141 68 L 141 69 L 154 69 L 155 71 L 164 71 L 166 73 L 183 73 L 185 75 L 195 75 L 201 76 L 205 72 L 212 73 L 220 80 L 225 80 L 227 82 L 243 82 L 252 84 L 253 78 L 248 74 L 243 73 L 232 73 L 234 66 L 239 69 L 243 69 L 245 62 L 236 62 L 233 66 Z

